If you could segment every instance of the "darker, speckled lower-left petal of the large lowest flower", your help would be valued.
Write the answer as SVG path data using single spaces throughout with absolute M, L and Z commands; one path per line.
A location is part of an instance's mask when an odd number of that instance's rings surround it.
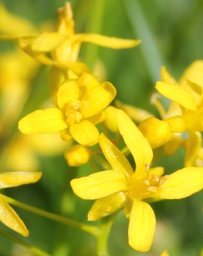
M 127 195 L 124 192 L 117 192 L 100 199 L 97 199 L 89 213 L 88 220 L 95 221 L 120 210 L 127 202 Z

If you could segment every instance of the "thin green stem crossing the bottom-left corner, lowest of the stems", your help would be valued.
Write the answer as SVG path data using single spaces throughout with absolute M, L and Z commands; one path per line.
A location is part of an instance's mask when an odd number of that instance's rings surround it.
M 11 241 L 18 243 L 19 245 L 26 247 L 30 252 L 39 255 L 39 256 L 50 256 L 50 254 L 40 250 L 37 247 L 33 247 L 31 246 L 29 243 L 21 240 L 18 237 L 15 237 L 14 235 L 11 235 L 10 233 L 6 232 L 4 229 L 0 228 L 0 234 L 7 237 L 8 239 L 10 239 Z

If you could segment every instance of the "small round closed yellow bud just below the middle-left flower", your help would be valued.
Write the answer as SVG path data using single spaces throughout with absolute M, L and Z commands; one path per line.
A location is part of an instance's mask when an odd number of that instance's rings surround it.
M 82 145 L 75 145 L 68 148 L 64 156 L 69 166 L 80 166 L 89 161 L 91 157 L 91 150 Z

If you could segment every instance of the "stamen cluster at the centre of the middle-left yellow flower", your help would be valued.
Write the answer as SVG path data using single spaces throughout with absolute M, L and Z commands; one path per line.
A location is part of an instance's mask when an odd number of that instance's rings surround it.
M 87 108 L 86 101 L 73 100 L 66 106 L 65 116 L 66 122 L 69 126 L 79 123 L 82 120 L 82 115 Z

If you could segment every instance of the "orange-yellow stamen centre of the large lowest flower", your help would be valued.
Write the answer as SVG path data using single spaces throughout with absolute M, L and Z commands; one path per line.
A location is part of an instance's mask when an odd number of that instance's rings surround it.
M 150 170 L 146 171 L 144 178 L 131 177 L 128 181 L 128 196 L 132 199 L 148 198 L 153 192 L 161 190 L 160 185 L 163 185 L 168 178 L 168 175 L 159 177 L 155 174 L 150 174 Z

